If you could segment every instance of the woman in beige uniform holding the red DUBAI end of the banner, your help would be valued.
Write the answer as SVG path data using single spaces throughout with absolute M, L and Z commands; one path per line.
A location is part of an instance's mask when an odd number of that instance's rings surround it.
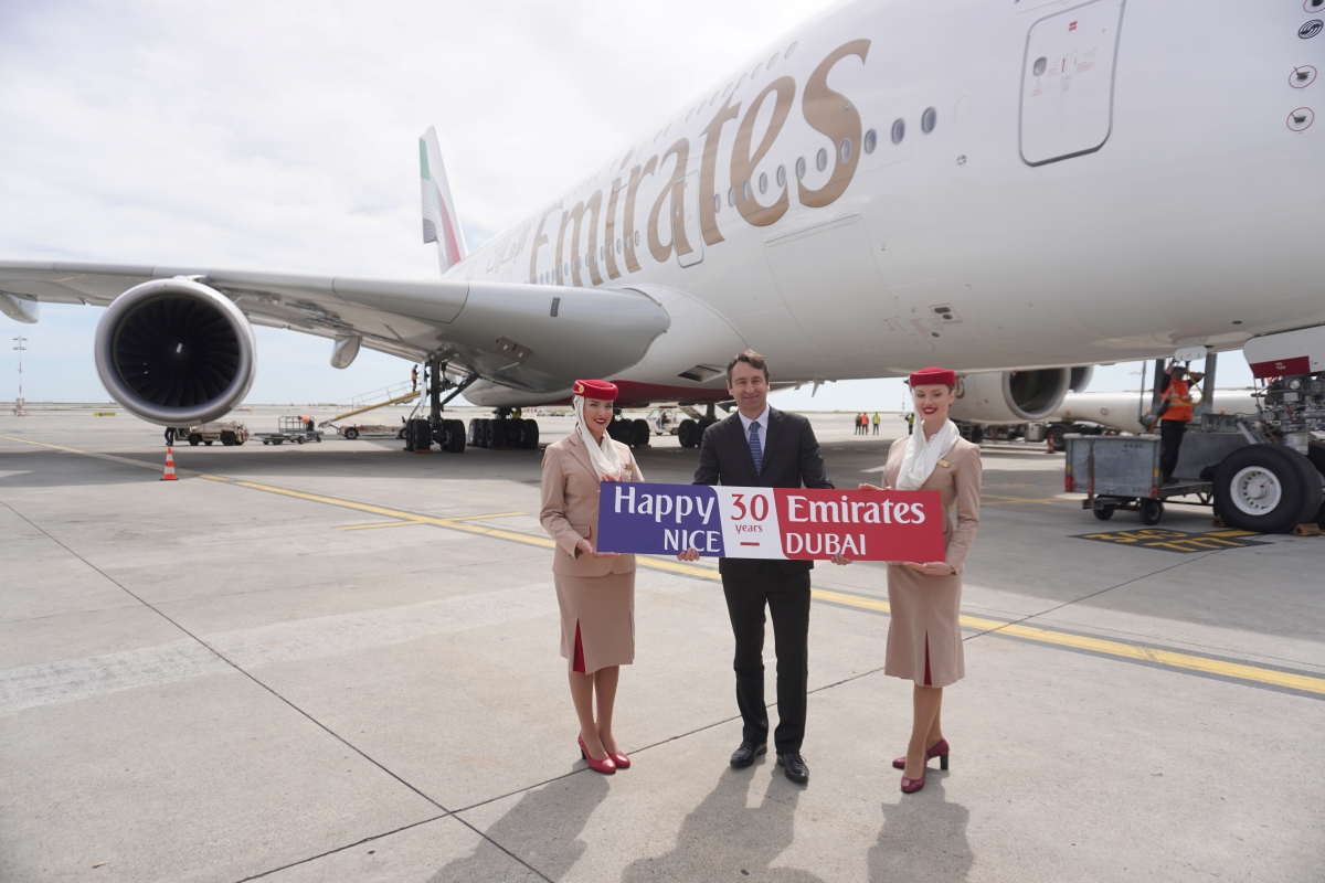
M 947 740 L 939 725 L 943 687 L 966 676 L 962 657 L 962 567 L 980 524 L 980 449 L 947 418 L 955 401 L 954 372 L 925 368 L 910 376 L 916 432 L 888 451 L 889 490 L 938 491 L 943 502 L 942 561 L 888 564 L 888 654 L 884 674 L 914 682 L 910 744 L 893 761 L 902 770 L 902 792 L 925 786 L 926 763 L 938 757 L 947 769 Z M 861 485 L 861 490 L 880 490 Z M 955 512 L 955 518 L 954 518 Z

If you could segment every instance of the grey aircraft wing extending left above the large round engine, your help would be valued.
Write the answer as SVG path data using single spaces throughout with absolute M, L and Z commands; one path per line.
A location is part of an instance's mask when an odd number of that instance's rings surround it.
M 103 307 L 139 283 L 174 277 L 215 289 L 253 324 L 356 336 L 411 361 L 432 353 L 454 373 L 529 392 L 617 373 L 670 324 L 635 290 L 64 261 L 0 261 L 0 311 L 36 322 L 41 302 Z

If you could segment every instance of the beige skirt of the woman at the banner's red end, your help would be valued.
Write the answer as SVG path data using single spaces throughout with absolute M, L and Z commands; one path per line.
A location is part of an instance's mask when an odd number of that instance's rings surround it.
M 962 653 L 962 576 L 926 576 L 888 565 L 888 654 L 884 674 L 928 687 L 966 676 Z

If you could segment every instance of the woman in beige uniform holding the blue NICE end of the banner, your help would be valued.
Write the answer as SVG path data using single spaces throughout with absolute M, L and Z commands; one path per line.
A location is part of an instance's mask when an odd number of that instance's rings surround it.
M 543 454 L 539 522 L 554 540 L 553 580 L 562 610 L 562 655 L 579 716 L 580 755 L 590 769 L 615 773 L 631 759 L 612 736 L 612 706 L 621 666 L 635 661 L 635 556 L 599 552 L 600 482 L 643 482 L 631 449 L 612 441 L 616 385 L 576 380 L 575 429 Z M 594 696 L 598 720 L 594 720 Z

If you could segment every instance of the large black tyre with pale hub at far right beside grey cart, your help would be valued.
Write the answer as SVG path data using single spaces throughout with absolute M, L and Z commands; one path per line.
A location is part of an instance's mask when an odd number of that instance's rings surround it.
M 1321 508 L 1321 474 L 1283 445 L 1239 447 L 1215 469 L 1215 515 L 1228 527 L 1288 534 Z

